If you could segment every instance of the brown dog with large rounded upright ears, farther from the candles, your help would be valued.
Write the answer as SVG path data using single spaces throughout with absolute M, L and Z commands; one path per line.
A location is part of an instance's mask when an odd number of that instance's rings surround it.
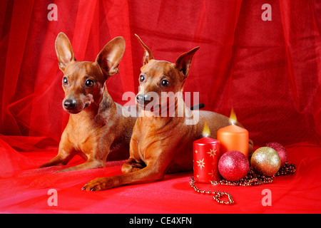
M 74 155 L 86 162 L 58 172 L 105 167 L 109 153 L 108 160 L 128 158 L 136 118 L 123 115 L 128 109 L 113 102 L 105 84 L 107 78 L 118 73 L 124 51 L 123 37 L 116 37 L 106 44 L 95 62 L 76 61 L 67 36 L 58 34 L 56 54 L 63 71 L 63 109 L 71 115 L 61 135 L 58 155 L 40 167 L 66 165 Z M 130 108 L 136 110 L 135 105 Z

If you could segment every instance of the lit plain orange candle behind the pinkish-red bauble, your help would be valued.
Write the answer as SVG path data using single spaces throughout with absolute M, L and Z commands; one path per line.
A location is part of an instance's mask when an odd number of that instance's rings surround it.
M 230 121 L 231 125 L 218 130 L 220 155 L 230 150 L 238 150 L 248 157 L 248 130 L 234 124 L 236 122 L 236 116 L 233 109 L 231 111 Z

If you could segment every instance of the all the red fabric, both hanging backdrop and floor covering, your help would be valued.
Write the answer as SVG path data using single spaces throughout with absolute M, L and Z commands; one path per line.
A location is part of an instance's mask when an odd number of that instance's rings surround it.
M 58 6 L 58 21 L 47 19 L 51 3 Z M 265 3 L 272 6 L 272 21 L 261 19 Z M 0 182 L 6 187 L 0 212 L 321 212 L 320 13 L 321 4 L 312 0 L 1 1 Z M 125 38 L 120 73 L 107 82 L 122 104 L 124 92 L 138 90 L 143 49 L 135 33 L 160 60 L 173 62 L 200 46 L 185 91 L 199 92 L 206 110 L 229 115 L 233 106 L 256 146 L 280 142 L 299 166 L 295 175 L 268 185 L 274 207 L 260 204 L 265 186 L 234 188 L 237 205 L 216 205 L 190 189 L 190 173 L 106 192 L 80 191 L 94 177 L 121 172 L 121 162 L 63 174 L 52 174 L 56 167 L 34 170 L 56 155 L 68 120 L 54 50 L 60 31 L 78 61 L 93 61 L 111 38 Z M 79 162 L 75 158 L 73 165 Z M 56 208 L 46 204 L 50 188 L 61 196 Z

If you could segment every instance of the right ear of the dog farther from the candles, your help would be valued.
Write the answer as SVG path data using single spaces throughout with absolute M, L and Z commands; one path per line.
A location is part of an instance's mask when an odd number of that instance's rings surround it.
M 103 71 L 103 75 L 106 78 L 118 73 L 118 65 L 121 58 L 123 58 L 125 47 L 125 39 L 122 36 L 118 36 L 109 41 L 98 53 L 96 62 L 101 67 L 101 71 Z

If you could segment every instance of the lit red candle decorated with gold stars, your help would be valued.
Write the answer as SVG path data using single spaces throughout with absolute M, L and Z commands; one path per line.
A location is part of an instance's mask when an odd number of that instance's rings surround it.
M 219 158 L 220 142 L 218 140 L 208 137 L 195 140 L 193 142 L 195 181 L 210 183 L 211 181 L 220 180 L 220 174 L 218 172 Z

